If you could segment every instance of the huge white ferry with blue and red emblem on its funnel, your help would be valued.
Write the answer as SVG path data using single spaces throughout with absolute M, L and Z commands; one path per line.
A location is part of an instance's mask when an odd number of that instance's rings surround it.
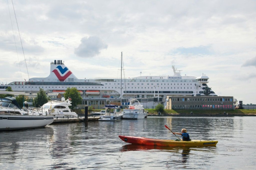
M 45 91 L 64 93 L 68 87 L 76 87 L 82 97 L 92 98 L 146 98 L 155 95 L 211 95 L 216 96 L 208 87 L 209 77 L 181 76 L 181 71 L 172 66 L 173 76 L 139 76 L 134 78 L 94 78 L 78 79 L 62 60 L 50 63 L 50 75 L 45 78 L 30 78 L 26 82 L 11 82 L 0 85 L 4 91 L 11 87 L 13 91 L 29 93 Z M 122 96 L 121 96 L 122 95 Z

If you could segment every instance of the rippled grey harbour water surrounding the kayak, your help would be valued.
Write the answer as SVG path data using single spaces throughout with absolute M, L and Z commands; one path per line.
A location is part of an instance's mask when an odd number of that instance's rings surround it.
M 255 169 L 256 117 L 148 117 L 0 132 L 1 169 Z M 218 140 L 216 147 L 153 147 L 118 135 Z

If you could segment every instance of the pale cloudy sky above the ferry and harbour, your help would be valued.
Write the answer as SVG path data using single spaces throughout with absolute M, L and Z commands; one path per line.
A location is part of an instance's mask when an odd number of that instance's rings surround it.
M 54 60 L 78 78 L 117 78 L 122 52 L 125 78 L 171 76 L 175 65 L 256 104 L 255 9 L 254 0 L 0 0 L 0 83 L 47 77 Z

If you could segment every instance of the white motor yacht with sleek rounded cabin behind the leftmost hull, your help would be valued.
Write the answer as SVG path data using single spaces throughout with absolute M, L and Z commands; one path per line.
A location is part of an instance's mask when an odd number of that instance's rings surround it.
M 78 118 L 78 114 L 69 108 L 71 103 L 70 99 L 65 100 L 65 98 L 62 97 L 61 101 L 49 101 L 42 105 L 40 112 L 42 112 L 43 115 L 53 115 L 54 118 Z

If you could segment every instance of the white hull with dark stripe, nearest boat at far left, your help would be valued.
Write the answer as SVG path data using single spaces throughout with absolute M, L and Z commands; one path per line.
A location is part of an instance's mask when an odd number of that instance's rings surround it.
M 17 130 L 45 127 L 54 121 L 53 116 L 0 114 L 0 130 Z

